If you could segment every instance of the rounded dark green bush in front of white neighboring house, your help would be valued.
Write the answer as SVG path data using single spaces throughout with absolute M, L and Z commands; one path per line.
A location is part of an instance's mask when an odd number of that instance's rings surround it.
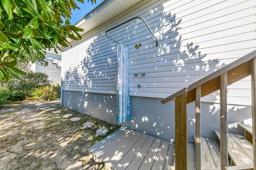
M 12 101 L 24 100 L 30 95 L 31 89 L 49 85 L 50 80 L 47 74 L 33 71 L 28 71 L 26 75 L 22 75 L 22 80 L 13 78 L 4 84 L 9 90 L 7 99 Z

